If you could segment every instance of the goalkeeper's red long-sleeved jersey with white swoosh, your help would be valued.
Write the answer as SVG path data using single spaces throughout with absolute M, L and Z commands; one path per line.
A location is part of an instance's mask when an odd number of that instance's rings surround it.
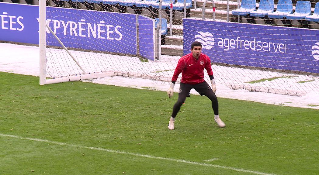
M 174 71 L 172 81 L 176 81 L 178 75 L 182 72 L 181 83 L 198 84 L 203 83 L 204 69 L 206 69 L 209 76 L 213 75 L 211 70 L 211 60 L 205 54 L 200 54 L 198 60 L 193 57 L 192 53 L 182 56 L 178 60 Z

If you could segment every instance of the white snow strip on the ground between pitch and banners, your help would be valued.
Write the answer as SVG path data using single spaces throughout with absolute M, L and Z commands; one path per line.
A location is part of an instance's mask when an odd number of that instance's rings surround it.
M 63 55 L 59 53 L 57 49 L 50 49 L 49 53 L 52 56 L 52 59 L 55 55 Z M 14 45 L 7 43 L 0 43 L 0 71 L 11 72 L 17 74 L 33 75 L 39 76 L 39 48 L 31 46 L 22 46 Z M 128 69 L 132 69 L 130 73 L 134 75 L 133 77 L 127 76 L 113 76 L 113 77 L 104 77 L 92 80 L 85 80 L 93 83 L 99 84 L 109 84 L 122 87 L 132 87 L 140 89 L 151 89 L 158 91 L 167 91 L 169 88 L 170 77 L 173 74 L 174 68 L 177 64 L 178 57 L 173 56 L 162 56 L 160 61 L 141 63 L 136 57 L 127 57 L 127 56 L 118 56 L 118 55 L 108 55 L 108 54 L 97 54 L 97 53 L 88 53 L 88 52 L 79 52 L 74 51 L 73 54 L 77 58 L 85 58 L 79 60 L 80 64 L 84 64 L 85 69 L 89 70 L 88 67 L 92 65 L 101 66 L 100 68 L 93 68 L 92 71 L 107 70 L 113 72 L 120 72 L 118 75 L 126 74 Z M 91 59 L 87 59 L 91 58 Z M 94 60 L 92 59 L 94 58 Z M 100 59 L 100 60 L 99 60 Z M 64 62 L 64 64 L 67 64 Z M 67 67 L 76 67 L 76 65 L 69 63 Z M 61 65 L 60 65 L 61 66 Z M 147 70 L 145 78 L 137 78 L 139 74 L 143 77 L 145 70 L 143 66 L 146 66 Z M 50 67 L 50 65 L 49 65 Z M 107 67 L 107 69 L 105 69 Z M 50 69 L 56 68 L 56 65 L 53 65 Z M 59 68 L 57 68 L 59 69 Z M 60 76 L 59 71 L 63 71 L 61 68 L 57 72 L 51 71 L 50 75 Z M 97 70 L 96 70 L 97 69 Z M 250 70 L 250 69 L 241 69 L 241 68 L 230 68 L 224 66 L 212 66 L 214 71 L 214 76 L 216 78 L 217 85 L 217 97 L 221 98 L 232 98 L 232 99 L 241 99 L 241 100 L 250 100 L 267 104 L 274 105 L 283 105 L 283 106 L 294 106 L 294 107 L 303 107 L 303 108 L 314 108 L 319 109 L 319 78 L 307 75 L 293 75 L 293 74 L 283 74 L 270 71 L 261 71 L 261 70 Z M 159 70 L 159 71 L 157 71 Z M 64 70 L 65 71 L 65 70 Z M 71 73 L 78 71 L 70 71 Z M 90 70 L 89 70 L 90 71 Z M 246 72 L 247 71 L 247 72 Z M 248 73 L 249 72 L 249 73 Z M 240 75 L 240 76 L 239 76 Z M 247 76 L 249 75 L 249 76 Z M 251 75 L 255 75 L 252 77 Z M 150 78 L 160 77 L 158 80 L 153 80 Z M 205 76 L 206 81 L 208 76 Z M 278 78 L 272 81 L 265 81 L 258 84 L 247 84 L 245 82 L 254 81 L 262 78 L 270 77 L 284 77 Z M 162 82 L 162 81 L 166 82 Z M 309 81 L 306 83 L 297 83 L 300 81 Z M 297 93 L 302 96 L 292 96 L 292 95 L 281 95 L 275 93 L 266 93 L 266 92 L 255 92 L 248 91 L 245 89 L 233 90 L 230 87 L 235 86 L 245 86 L 246 89 L 265 89 L 268 91 L 277 91 L 276 93 L 287 93 L 286 91 L 291 91 L 292 94 Z M 248 86 L 253 86 L 247 87 Z M 176 84 L 174 91 L 177 92 L 179 89 L 179 84 Z M 166 93 L 166 92 L 165 92 Z M 163 94 L 165 94 L 163 92 Z M 195 90 L 191 91 L 191 94 L 198 94 Z M 289 93 L 288 93 L 289 94 Z

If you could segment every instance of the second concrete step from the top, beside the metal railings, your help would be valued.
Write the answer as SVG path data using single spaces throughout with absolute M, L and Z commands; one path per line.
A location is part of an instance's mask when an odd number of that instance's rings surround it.
M 203 9 L 191 9 L 190 17 L 202 18 L 203 17 Z M 213 9 L 205 9 L 205 18 L 213 18 Z M 215 11 L 215 19 L 227 20 L 227 11 L 225 10 L 216 10 Z M 229 21 L 235 21 L 235 17 L 232 15 L 232 11 L 229 11 Z

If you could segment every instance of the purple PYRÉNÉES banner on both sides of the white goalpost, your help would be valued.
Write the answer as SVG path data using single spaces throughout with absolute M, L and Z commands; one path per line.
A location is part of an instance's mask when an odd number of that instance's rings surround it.
M 66 47 L 137 54 L 137 15 L 46 8 L 46 23 Z M 0 3 L 0 40 L 39 44 L 39 6 Z M 61 45 L 47 29 L 47 45 Z

